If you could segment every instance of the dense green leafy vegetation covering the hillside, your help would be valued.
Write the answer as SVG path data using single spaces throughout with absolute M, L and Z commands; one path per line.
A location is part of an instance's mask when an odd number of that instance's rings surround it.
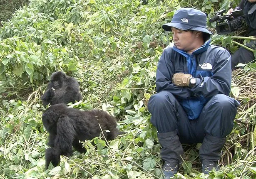
M 147 101 L 155 93 L 155 71 L 171 34 L 161 26 L 180 7 L 196 7 L 209 16 L 228 9 L 230 0 L 31 0 L 0 28 L 0 177 L 162 178 L 160 145 L 150 124 Z M 236 6 L 239 1 L 233 2 Z M 214 31 L 214 23 L 208 23 Z M 214 35 L 212 43 L 231 52 L 232 36 Z M 249 38 L 244 38 L 245 43 Z M 119 121 L 126 134 L 111 142 L 85 141 L 86 154 L 62 157 L 45 170 L 47 132 L 40 95 L 52 72 L 78 79 L 82 102 L 73 107 L 99 108 Z M 231 96 L 241 101 L 228 137 L 221 170 L 208 178 L 256 177 L 256 65 L 234 71 Z M 197 145 L 184 145 L 178 178 L 206 178 Z

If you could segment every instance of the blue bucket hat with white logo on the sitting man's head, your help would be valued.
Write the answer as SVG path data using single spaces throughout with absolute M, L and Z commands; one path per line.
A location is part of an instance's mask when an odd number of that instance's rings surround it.
M 166 31 L 171 31 L 171 27 L 181 30 L 197 30 L 212 35 L 212 33 L 206 29 L 206 15 L 204 12 L 193 8 L 181 8 L 180 10 L 176 10 L 171 22 L 162 25 L 162 28 Z

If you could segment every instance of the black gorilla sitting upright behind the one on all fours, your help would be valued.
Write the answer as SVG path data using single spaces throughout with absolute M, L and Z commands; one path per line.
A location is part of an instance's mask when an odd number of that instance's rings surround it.
M 50 82 L 47 84 L 45 93 L 41 96 L 43 105 L 58 103 L 75 103 L 82 100 L 79 83 L 73 77 L 67 76 L 62 71 L 52 74 Z

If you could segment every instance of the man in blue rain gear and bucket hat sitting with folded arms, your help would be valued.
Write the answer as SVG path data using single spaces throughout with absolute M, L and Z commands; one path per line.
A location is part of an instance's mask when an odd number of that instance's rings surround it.
M 157 94 L 148 103 L 167 179 L 177 173 L 181 143 L 202 143 L 202 172 L 218 170 L 221 149 L 233 129 L 239 102 L 229 97 L 231 56 L 210 44 L 206 15 L 193 8 L 177 10 L 162 26 L 173 34 L 174 47 L 164 49 L 156 75 Z

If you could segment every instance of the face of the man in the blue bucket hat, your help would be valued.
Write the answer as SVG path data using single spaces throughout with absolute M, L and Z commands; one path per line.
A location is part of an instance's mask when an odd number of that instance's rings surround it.
M 171 31 L 173 33 L 172 39 L 174 40 L 174 44 L 178 49 L 184 51 L 190 51 L 194 49 L 198 44 L 196 43 L 196 33 L 195 31 L 184 31 L 180 29 L 176 29 L 175 27 L 171 27 Z

